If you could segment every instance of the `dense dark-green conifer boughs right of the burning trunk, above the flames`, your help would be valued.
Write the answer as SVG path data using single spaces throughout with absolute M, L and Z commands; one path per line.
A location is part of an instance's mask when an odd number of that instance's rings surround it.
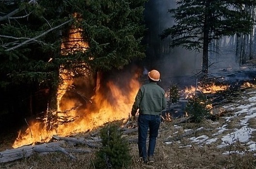
M 132 59 L 145 56 L 141 41 L 146 30 L 143 25 L 146 1 L 87 0 L 86 5 L 79 5 L 81 22 L 76 26 L 84 30 L 83 36 L 89 42 L 85 57 L 93 58 L 89 62 L 91 68 L 121 69 Z

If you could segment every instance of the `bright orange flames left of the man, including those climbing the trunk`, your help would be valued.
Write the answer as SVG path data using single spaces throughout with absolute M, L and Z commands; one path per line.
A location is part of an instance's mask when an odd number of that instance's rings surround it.
M 70 37 L 66 42 L 61 44 L 61 54 L 67 55 L 75 51 L 85 51 L 88 48 L 88 43 L 83 41 L 81 36 L 81 29 L 72 28 L 70 29 Z M 83 63 L 85 64 L 85 63 Z M 88 73 L 85 73 L 88 75 Z M 62 97 L 66 93 L 67 89 L 70 88 L 74 82 L 72 73 L 68 70 L 60 68 L 60 78 L 63 79 L 60 84 L 57 93 L 57 113 L 54 114 L 57 117 L 61 115 L 61 109 L 71 109 L 80 103 L 76 100 L 65 99 Z M 127 77 L 126 77 L 127 78 Z M 57 124 L 58 127 L 55 129 L 47 129 L 48 126 L 45 123 L 39 121 L 32 121 L 29 127 L 25 131 L 19 131 L 18 137 L 15 140 L 13 147 L 17 148 L 23 145 L 34 144 L 36 142 L 47 142 L 51 139 L 52 135 L 67 136 L 74 132 L 83 132 L 91 130 L 95 127 L 99 127 L 106 122 L 114 120 L 127 119 L 129 117 L 136 92 L 140 86 L 138 82 L 138 74 L 134 74 L 129 79 L 127 86 L 118 86 L 118 83 L 108 81 L 106 83 L 107 90 L 101 90 L 103 86 L 100 86 L 100 77 L 97 78 L 96 91 L 94 96 L 90 98 L 92 104 L 88 104 L 84 109 L 72 110 L 65 116 L 77 117 L 71 123 Z M 125 92 L 122 88 L 126 88 Z M 111 100 L 112 98 L 114 100 Z M 61 104 L 60 104 L 61 103 Z M 64 106 L 60 106 L 64 105 Z M 47 121 L 47 114 L 45 121 Z

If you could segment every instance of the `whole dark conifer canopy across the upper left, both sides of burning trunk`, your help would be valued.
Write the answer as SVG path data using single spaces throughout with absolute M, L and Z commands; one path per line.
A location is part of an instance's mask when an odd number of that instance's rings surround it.
M 147 0 L 1 0 L 0 92 L 23 98 L 59 82 L 60 67 L 97 71 L 122 68 L 145 56 Z M 75 52 L 61 53 L 70 29 L 88 44 Z M 75 47 L 75 46 L 73 46 Z M 22 94 L 22 95 L 23 95 Z

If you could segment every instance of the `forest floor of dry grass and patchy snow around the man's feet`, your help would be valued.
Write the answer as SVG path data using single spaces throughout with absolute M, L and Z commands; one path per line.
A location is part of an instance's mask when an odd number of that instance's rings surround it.
M 129 169 L 256 169 L 256 88 L 238 93 L 229 103 L 214 108 L 222 113 L 214 121 L 174 125 L 180 120 L 177 118 L 161 123 L 156 162 L 151 165 L 140 161 L 137 144 L 131 143 L 133 163 Z M 128 137 L 136 139 L 137 133 Z M 2 143 L 1 150 L 10 145 L 8 141 Z M 35 154 L 2 163 L 0 169 L 94 169 L 95 152 L 74 153 L 75 160 L 62 153 Z

